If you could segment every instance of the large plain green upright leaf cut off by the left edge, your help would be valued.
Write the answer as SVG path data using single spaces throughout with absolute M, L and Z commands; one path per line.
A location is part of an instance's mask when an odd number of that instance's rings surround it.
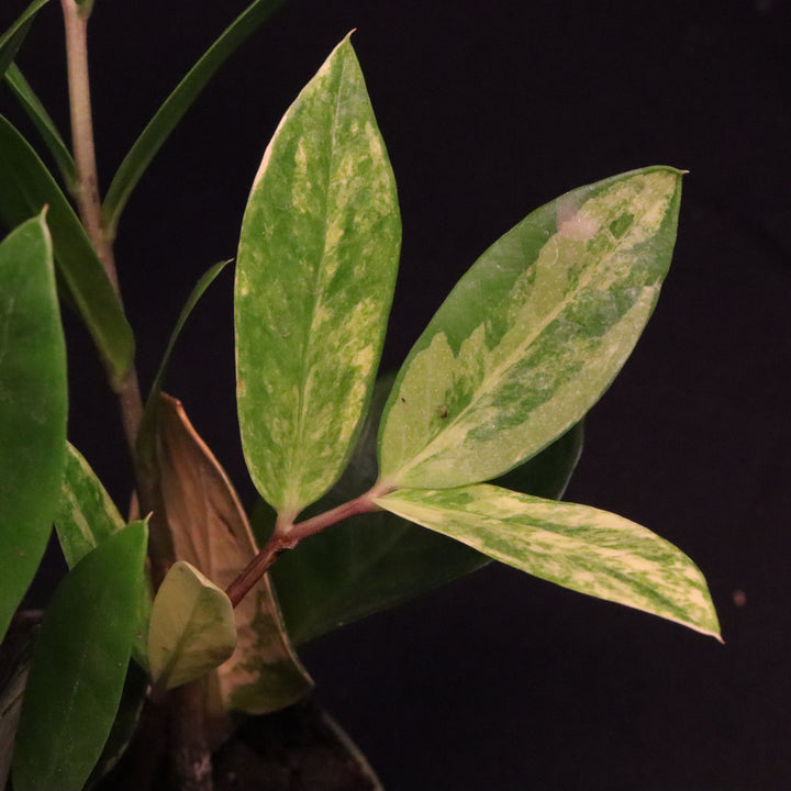
M 49 536 L 66 413 L 66 349 L 42 214 L 0 244 L 0 639 Z

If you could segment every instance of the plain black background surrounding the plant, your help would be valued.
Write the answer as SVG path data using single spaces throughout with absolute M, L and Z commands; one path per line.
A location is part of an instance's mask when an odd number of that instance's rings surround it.
M 1 0 L 0 22 L 24 4 Z M 51 5 L 20 63 L 65 130 Z M 97 0 L 104 187 L 244 5 Z M 491 566 L 305 649 L 321 700 L 388 791 L 790 788 L 789 3 L 290 0 L 221 71 L 122 220 L 144 385 L 193 281 L 234 255 L 277 121 L 352 27 L 403 213 L 386 368 L 532 209 L 644 165 L 690 170 L 662 298 L 590 414 L 566 497 L 692 556 L 725 645 Z M 168 389 L 249 503 L 231 300 L 226 272 L 185 333 Z M 123 502 L 115 408 L 85 332 L 75 321 L 68 331 L 71 439 Z

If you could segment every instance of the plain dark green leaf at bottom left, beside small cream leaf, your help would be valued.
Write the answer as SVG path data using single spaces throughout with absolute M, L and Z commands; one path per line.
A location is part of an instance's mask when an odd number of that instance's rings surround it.
M 132 523 L 58 586 L 22 703 L 15 791 L 80 789 L 99 759 L 126 677 L 147 533 Z

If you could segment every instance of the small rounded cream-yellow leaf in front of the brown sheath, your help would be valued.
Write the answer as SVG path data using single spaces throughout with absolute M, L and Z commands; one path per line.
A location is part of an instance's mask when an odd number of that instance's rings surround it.
M 148 630 L 148 664 L 161 690 L 194 681 L 222 665 L 236 646 L 233 605 L 190 564 L 178 560 L 156 598 Z

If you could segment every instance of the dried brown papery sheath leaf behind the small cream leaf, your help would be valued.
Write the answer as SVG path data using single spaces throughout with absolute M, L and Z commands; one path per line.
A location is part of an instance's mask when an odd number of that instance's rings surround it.
M 257 554 L 247 517 L 224 470 L 176 399 L 163 394 L 158 466 L 176 557 L 223 590 Z M 294 703 L 312 682 L 286 635 L 269 577 L 234 610 L 233 656 L 218 668 L 225 710 L 266 714 Z

